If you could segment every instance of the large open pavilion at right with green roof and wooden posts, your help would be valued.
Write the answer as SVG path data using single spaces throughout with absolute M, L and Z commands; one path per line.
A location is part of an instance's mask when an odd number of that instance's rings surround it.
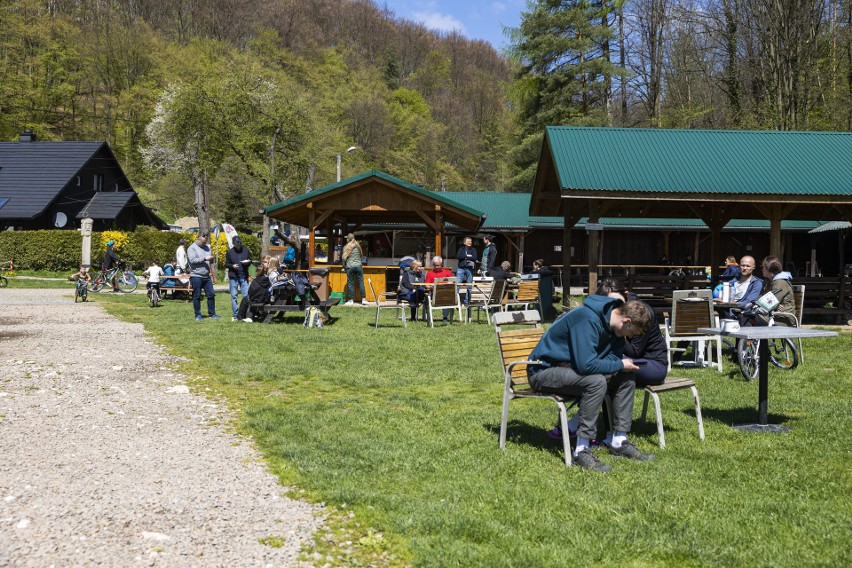
M 767 219 L 769 252 L 782 257 L 782 220 L 852 221 L 852 133 L 662 130 L 551 126 L 545 133 L 531 215 L 588 217 L 589 287 L 597 282 L 602 217 L 697 218 L 721 255 L 732 219 Z M 567 295 L 566 295 L 567 297 Z

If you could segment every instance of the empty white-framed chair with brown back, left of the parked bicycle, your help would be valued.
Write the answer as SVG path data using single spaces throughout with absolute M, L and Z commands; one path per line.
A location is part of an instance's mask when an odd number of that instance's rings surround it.
M 711 290 L 676 290 L 672 296 L 671 319 L 665 320 L 666 348 L 668 349 L 668 368 L 672 368 L 675 351 L 686 351 L 676 347 L 681 341 L 697 342 L 697 352 L 703 356 L 705 364 L 716 367 L 722 372 L 722 338 L 719 335 L 707 335 L 698 331 L 700 327 L 718 327 L 718 318 L 713 311 Z M 716 344 L 716 361 L 713 361 L 713 344 Z M 705 349 L 706 346 L 706 349 Z

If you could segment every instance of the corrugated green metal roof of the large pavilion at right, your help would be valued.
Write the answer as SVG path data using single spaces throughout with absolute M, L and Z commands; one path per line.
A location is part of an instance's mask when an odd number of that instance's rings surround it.
M 852 133 L 548 126 L 562 189 L 852 195 Z

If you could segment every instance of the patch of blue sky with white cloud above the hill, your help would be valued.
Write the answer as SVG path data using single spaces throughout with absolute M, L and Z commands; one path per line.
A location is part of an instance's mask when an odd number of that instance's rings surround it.
M 484 39 L 496 49 L 508 43 L 503 26 L 517 27 L 526 0 L 376 0 L 398 17 L 433 30 L 458 30 L 471 39 Z

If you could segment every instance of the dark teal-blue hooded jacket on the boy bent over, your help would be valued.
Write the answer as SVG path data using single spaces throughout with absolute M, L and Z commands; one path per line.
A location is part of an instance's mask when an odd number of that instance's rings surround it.
M 589 296 L 579 308 L 563 315 L 539 340 L 530 353 L 541 365 L 530 365 L 528 372 L 567 363 L 580 375 L 613 375 L 624 369 L 621 357 L 624 339 L 610 328 L 612 310 L 624 304 L 607 296 Z

